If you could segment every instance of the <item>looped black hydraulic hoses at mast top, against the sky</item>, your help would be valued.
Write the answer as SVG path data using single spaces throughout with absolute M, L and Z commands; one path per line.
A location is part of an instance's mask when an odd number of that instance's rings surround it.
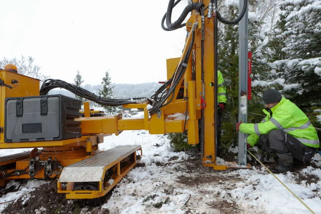
M 176 6 L 176 4 L 178 4 L 181 0 L 177 0 L 175 3 L 174 3 L 174 0 L 169 0 L 169 3 L 168 3 L 168 7 L 167 7 L 167 12 L 165 13 L 165 15 L 163 16 L 163 19 L 161 21 L 161 25 L 162 25 L 162 28 L 163 30 L 166 30 L 166 31 L 171 31 L 171 30 L 176 30 L 178 28 L 182 28 L 186 25 L 186 23 L 182 24 L 182 22 L 184 21 L 184 19 L 187 17 L 188 13 L 193 11 L 193 10 L 196 10 L 196 11 L 199 11 L 200 12 L 200 8 L 202 6 L 204 6 L 204 4 L 202 3 L 196 3 L 196 2 L 193 2 L 193 3 L 190 3 L 188 4 L 185 9 L 183 10 L 183 12 L 181 13 L 181 15 L 178 17 L 178 19 L 172 23 L 171 22 L 171 18 L 172 18 L 172 10 L 173 10 L 173 7 Z M 166 19 L 166 26 L 167 28 L 164 27 L 164 21 Z

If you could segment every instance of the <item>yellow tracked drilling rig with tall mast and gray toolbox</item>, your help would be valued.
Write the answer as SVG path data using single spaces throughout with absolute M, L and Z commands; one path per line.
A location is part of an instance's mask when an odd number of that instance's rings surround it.
M 58 179 L 58 193 L 66 193 L 68 199 L 101 197 L 143 155 L 140 145 L 98 150 L 105 136 L 124 130 L 148 130 L 150 134 L 187 131 L 189 144 L 200 143 L 205 167 L 221 170 L 230 167 L 216 161 L 216 28 L 217 19 L 238 23 L 247 0 L 234 21 L 223 19 L 213 0 L 193 0 L 178 20 L 171 23 L 171 11 L 179 2 L 169 0 L 161 26 L 167 31 L 186 27 L 185 47 L 181 57 L 167 60 L 168 81 L 151 98 L 102 98 L 54 79 L 44 81 L 40 88 L 38 79 L 19 74 L 13 64 L 0 70 L 0 149 L 33 148 L 31 152 L 0 157 L 2 186 L 11 179 Z M 189 19 L 182 24 L 189 13 Z M 54 88 L 64 88 L 106 106 L 143 108 L 144 118 L 104 116 L 103 112 L 90 110 L 88 102 L 81 111 L 78 99 L 48 95 Z M 176 113 L 184 114 L 185 119 L 169 117 Z

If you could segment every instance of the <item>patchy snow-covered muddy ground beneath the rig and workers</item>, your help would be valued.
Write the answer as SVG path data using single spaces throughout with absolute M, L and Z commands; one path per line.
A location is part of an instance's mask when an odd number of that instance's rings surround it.
M 185 152 L 172 152 L 164 135 L 124 131 L 105 137 L 99 148 L 107 150 L 128 144 L 142 145 L 141 162 L 146 166 L 134 168 L 117 184 L 101 207 L 110 213 L 309 213 L 264 167 L 225 171 L 203 167 Z M 0 154 L 12 153 L 13 150 L 2 150 Z M 318 167 L 309 166 L 299 173 L 277 177 L 315 213 L 321 214 L 321 156 L 316 154 L 311 161 Z M 6 188 L 17 185 L 16 192 L 1 196 L 0 212 L 10 206 L 6 201 L 27 199 L 28 193 L 43 183 L 7 184 Z M 45 212 L 38 210 L 39 213 Z

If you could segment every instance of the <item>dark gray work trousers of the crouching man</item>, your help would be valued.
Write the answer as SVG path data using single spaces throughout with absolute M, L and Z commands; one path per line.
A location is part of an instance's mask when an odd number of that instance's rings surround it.
M 315 148 L 302 144 L 295 137 L 278 129 L 273 129 L 268 134 L 261 134 L 259 142 L 266 152 L 291 153 L 293 158 L 302 161 L 310 160 L 316 152 Z

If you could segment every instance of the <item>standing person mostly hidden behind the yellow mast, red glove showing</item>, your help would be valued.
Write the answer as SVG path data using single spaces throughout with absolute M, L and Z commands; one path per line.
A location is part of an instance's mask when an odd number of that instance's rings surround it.
M 224 111 L 224 107 L 227 103 L 226 99 L 226 87 L 224 84 L 224 79 L 222 73 L 217 70 L 217 101 L 219 103 L 219 109 L 220 111 L 217 112 L 217 128 L 218 128 L 218 134 L 217 134 L 217 152 L 221 150 L 221 113 Z

